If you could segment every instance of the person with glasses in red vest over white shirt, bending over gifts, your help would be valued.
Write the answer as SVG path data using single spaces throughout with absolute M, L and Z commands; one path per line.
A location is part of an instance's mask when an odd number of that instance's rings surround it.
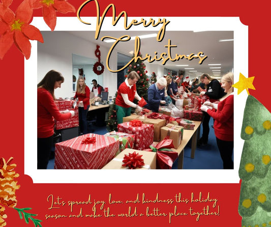
M 131 115 L 131 107 L 142 111 L 142 108 L 135 103 L 134 99 L 140 101 L 141 98 L 136 92 L 136 82 L 140 79 L 139 75 L 132 71 L 128 74 L 127 79 L 119 85 L 115 100 L 117 123 L 123 123 L 123 118 Z

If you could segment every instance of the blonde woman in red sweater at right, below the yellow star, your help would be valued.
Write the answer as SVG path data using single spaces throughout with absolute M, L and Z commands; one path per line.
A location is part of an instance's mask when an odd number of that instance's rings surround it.
M 218 104 L 205 102 L 201 110 L 215 119 L 214 129 L 224 169 L 233 169 L 233 74 L 227 73 L 221 79 L 221 87 L 227 93 Z M 217 109 L 216 112 L 211 108 Z

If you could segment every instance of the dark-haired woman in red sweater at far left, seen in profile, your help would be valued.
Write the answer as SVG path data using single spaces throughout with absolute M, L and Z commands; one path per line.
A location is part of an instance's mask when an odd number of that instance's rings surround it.
M 74 111 L 59 112 L 54 103 L 54 89 L 61 87 L 64 77 L 54 70 L 49 71 L 38 84 L 38 169 L 47 169 L 53 146 L 54 119 L 66 120 Z

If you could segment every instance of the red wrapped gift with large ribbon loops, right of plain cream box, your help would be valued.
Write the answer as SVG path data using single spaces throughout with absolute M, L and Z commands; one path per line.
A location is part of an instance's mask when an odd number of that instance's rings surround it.
M 178 158 L 178 153 L 170 150 L 171 148 L 174 148 L 173 141 L 165 139 L 158 143 L 156 146 L 152 144 L 150 148 L 145 149 L 145 151 L 156 152 L 157 169 L 172 169 L 174 161 Z

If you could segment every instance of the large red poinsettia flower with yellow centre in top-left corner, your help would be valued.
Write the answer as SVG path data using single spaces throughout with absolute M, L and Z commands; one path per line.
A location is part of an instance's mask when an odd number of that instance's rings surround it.
M 11 1 L 3 1 L 9 4 Z M 16 14 L 3 3 L 0 7 L 0 58 L 14 43 L 26 59 L 31 54 L 31 43 L 29 40 L 37 40 L 43 43 L 40 30 L 28 24 L 32 19 L 33 9 L 29 6 L 28 0 L 24 0 L 18 7 Z

